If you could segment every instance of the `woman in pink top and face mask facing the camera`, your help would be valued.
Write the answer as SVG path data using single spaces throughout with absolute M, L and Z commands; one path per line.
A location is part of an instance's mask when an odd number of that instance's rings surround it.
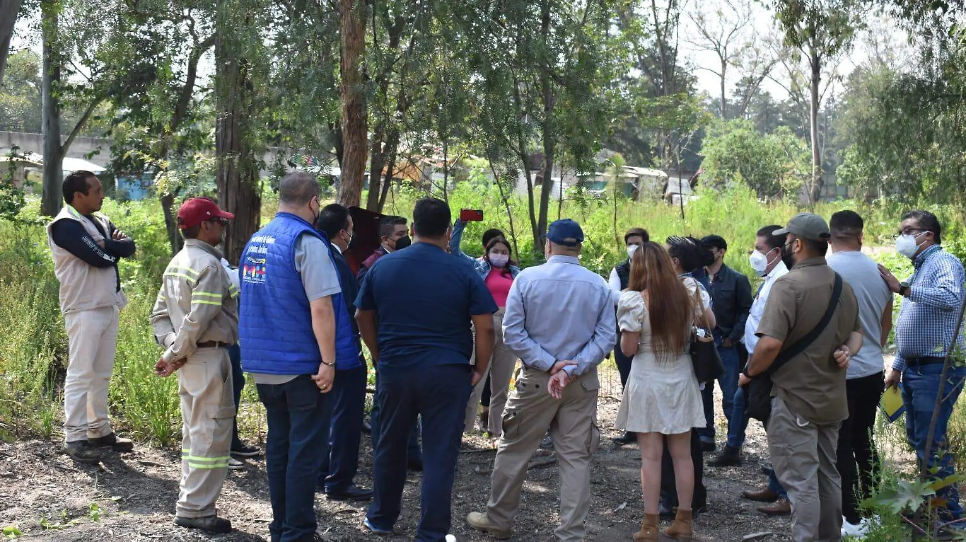
M 466 427 L 469 430 L 476 418 L 476 408 L 480 402 L 480 395 L 490 379 L 490 408 L 486 417 L 480 418 L 480 429 L 491 436 L 499 438 L 502 432 L 503 407 L 510 391 L 510 377 L 517 365 L 517 357 L 503 344 L 503 311 L 506 308 L 506 296 L 510 293 L 513 279 L 520 273 L 517 264 L 510 258 L 510 243 L 506 238 L 497 236 L 486 244 L 483 257 L 476 260 L 476 271 L 487 285 L 499 310 L 493 314 L 494 329 L 497 330 L 497 341 L 493 346 L 493 358 L 487 368 L 488 375 L 480 379 L 479 384 L 469 396 L 467 405 Z

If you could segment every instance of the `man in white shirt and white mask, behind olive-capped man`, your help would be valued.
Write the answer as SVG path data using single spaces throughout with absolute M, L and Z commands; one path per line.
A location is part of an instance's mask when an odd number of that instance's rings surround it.
M 752 311 L 749 312 L 748 321 L 745 323 L 743 340 L 749 356 L 758 343 L 758 337 L 754 332 L 761 323 L 761 315 L 765 312 L 765 304 L 772 291 L 772 285 L 788 273 L 788 267 L 782 261 L 785 236 L 774 235 L 775 230 L 781 230 L 781 226 L 766 226 L 758 230 L 754 239 L 754 250 L 749 256 L 752 269 L 763 279 L 754 294 Z M 731 420 L 728 421 L 727 445 L 718 457 L 708 462 L 709 467 L 731 467 L 741 464 L 741 447 L 745 444 L 745 430 L 748 428 L 748 415 L 745 413 L 746 391 L 743 388 L 747 385 L 748 380 L 742 374 L 739 378 L 738 391 L 734 394 L 734 410 L 731 412 Z M 752 501 L 771 502 L 758 508 L 758 511 L 764 514 L 783 516 L 791 513 L 788 496 L 774 472 L 768 477 L 767 487 L 759 491 L 746 491 L 742 495 Z

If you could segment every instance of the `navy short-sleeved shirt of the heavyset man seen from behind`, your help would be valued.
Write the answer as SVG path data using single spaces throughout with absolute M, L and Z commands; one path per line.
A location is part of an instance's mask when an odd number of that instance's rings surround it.
M 470 315 L 497 312 L 469 261 L 427 243 L 379 258 L 355 307 L 376 312 L 380 371 L 469 365 Z

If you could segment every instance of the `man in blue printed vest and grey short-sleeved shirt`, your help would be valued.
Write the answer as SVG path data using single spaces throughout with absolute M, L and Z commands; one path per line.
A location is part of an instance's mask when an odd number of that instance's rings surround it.
M 278 214 L 241 254 L 241 360 L 269 423 L 272 542 L 313 540 L 313 481 L 328 437 L 327 393 L 336 366 L 358 363 L 328 239 L 312 227 L 319 210 L 315 177 L 285 176 Z

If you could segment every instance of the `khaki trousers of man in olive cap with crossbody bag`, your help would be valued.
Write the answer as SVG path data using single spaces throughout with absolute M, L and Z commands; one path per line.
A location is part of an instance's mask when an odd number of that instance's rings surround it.
M 841 422 L 816 424 L 797 416 L 780 397 L 772 397 L 768 450 L 791 501 L 795 542 L 841 540 L 841 477 L 836 468 Z

